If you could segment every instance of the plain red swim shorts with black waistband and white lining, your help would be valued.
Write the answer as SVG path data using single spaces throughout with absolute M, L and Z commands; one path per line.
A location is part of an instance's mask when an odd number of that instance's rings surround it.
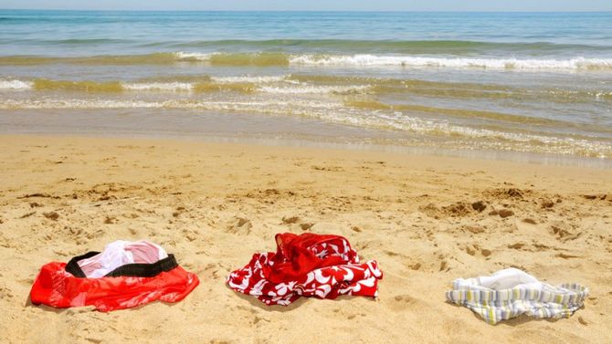
M 197 285 L 197 276 L 178 266 L 174 255 L 147 241 L 115 241 L 102 253 L 90 252 L 69 263 L 42 266 L 30 299 L 55 308 L 93 306 L 108 312 L 155 300 L 178 302 Z

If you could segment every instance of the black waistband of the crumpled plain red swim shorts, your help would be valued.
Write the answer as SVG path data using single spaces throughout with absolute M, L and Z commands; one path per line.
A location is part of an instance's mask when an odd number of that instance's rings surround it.
M 90 258 L 94 255 L 100 255 L 100 252 L 88 252 L 85 255 L 77 255 L 70 259 L 66 265 L 66 272 L 72 274 L 72 276 L 79 278 L 87 278 L 83 270 L 79 266 L 79 260 Z M 126 264 L 119 266 L 106 274 L 105 277 L 119 277 L 119 276 L 135 276 L 135 277 L 153 277 L 157 276 L 165 271 L 170 271 L 174 267 L 178 266 L 174 255 L 168 255 L 164 259 L 158 260 L 152 264 Z

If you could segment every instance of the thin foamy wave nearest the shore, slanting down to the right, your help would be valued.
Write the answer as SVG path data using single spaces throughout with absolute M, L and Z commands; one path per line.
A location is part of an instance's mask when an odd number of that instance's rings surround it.
M 432 137 L 480 139 L 491 145 L 523 147 L 527 151 L 568 153 L 612 158 L 612 144 L 577 137 L 557 137 L 540 133 L 491 130 L 408 116 L 398 111 L 372 112 L 350 109 L 342 103 L 311 100 L 212 101 L 173 99 L 145 101 L 136 99 L 5 99 L 0 109 L 206 109 L 280 116 L 309 117 L 362 128 L 409 131 Z M 386 109 L 386 108 L 385 108 Z M 513 147 L 513 148 L 512 148 Z

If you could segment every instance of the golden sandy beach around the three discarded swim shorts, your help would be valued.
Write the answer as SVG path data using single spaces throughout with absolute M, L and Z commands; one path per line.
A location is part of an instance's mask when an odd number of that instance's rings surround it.
M 502 209 L 513 214 L 495 214 Z M 609 343 L 611 216 L 609 170 L 1 136 L 0 342 Z M 349 238 L 384 270 L 380 297 L 266 307 L 225 286 L 230 270 L 274 250 L 273 235 L 285 231 Z M 200 277 L 184 301 L 111 313 L 29 303 L 43 264 L 142 238 Z M 591 296 L 572 318 L 497 326 L 445 302 L 454 278 L 509 266 L 552 284 L 586 284 Z

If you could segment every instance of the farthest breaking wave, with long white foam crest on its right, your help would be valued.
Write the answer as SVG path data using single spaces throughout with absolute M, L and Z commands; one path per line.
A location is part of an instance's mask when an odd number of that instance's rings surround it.
M 425 57 L 417 55 L 332 55 L 281 52 L 199 53 L 176 52 L 148 55 L 94 57 L 0 57 L 0 65 L 171 65 L 202 63 L 213 67 L 331 67 L 331 68 L 478 68 L 483 70 L 612 71 L 612 58 Z

